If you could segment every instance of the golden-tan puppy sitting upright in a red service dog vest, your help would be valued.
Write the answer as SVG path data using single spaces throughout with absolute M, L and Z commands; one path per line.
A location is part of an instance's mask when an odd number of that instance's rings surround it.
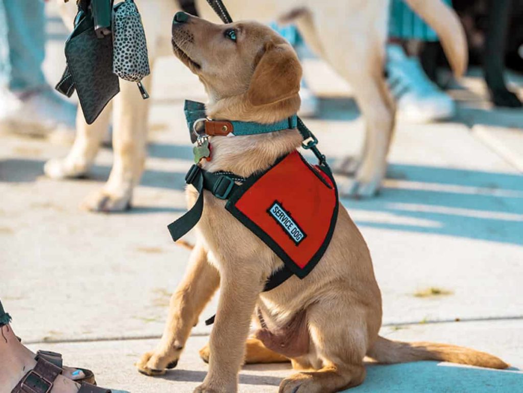
M 277 33 L 258 23 L 216 25 L 184 15 L 177 14 L 173 24 L 174 52 L 205 86 L 210 118 L 271 123 L 297 113 L 301 66 Z M 249 176 L 266 170 L 301 141 L 295 129 L 215 136 L 212 160 L 201 165 L 210 172 Z M 187 198 L 192 206 L 197 198 L 194 187 L 187 188 Z M 219 286 L 217 318 L 209 347 L 202 351 L 209 373 L 196 392 L 236 392 L 244 362 L 288 358 L 295 369 L 308 372 L 283 380 L 282 393 L 329 393 L 359 385 L 365 378 L 365 356 L 383 363 L 442 360 L 507 367 L 497 357 L 471 349 L 380 337 L 381 294 L 371 257 L 343 206 L 332 241 L 314 270 L 302 280 L 293 276 L 262 293 L 282 261 L 224 205 L 204 191 L 189 270 L 170 301 L 160 344 L 138 363 L 142 373 L 163 374 L 176 366 L 191 328 Z M 260 330 L 260 340 L 247 339 L 251 321 L 260 325 L 260 314 L 270 332 Z M 282 339 L 286 350 L 278 353 L 275 344 Z

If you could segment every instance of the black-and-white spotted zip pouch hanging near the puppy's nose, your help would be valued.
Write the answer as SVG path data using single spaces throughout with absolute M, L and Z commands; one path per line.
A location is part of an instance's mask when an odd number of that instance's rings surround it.
M 142 79 L 151 73 L 142 18 L 134 0 L 125 0 L 113 8 L 113 72 L 123 80 L 136 82 L 143 99 L 149 94 Z

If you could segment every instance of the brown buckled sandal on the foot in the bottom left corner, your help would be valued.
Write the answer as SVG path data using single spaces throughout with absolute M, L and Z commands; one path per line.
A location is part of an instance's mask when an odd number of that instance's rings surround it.
M 11 393 L 50 393 L 56 377 L 62 374 L 62 367 L 47 361 L 41 354 L 37 356 L 35 368 L 30 370 L 15 386 Z M 75 381 L 78 383 L 78 381 Z M 81 383 L 78 393 L 111 393 L 109 389 Z

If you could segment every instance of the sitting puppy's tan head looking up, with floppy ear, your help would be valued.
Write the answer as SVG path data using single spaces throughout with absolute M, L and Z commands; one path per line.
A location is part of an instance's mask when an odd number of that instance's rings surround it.
M 214 102 L 241 97 L 254 107 L 286 100 L 299 107 L 301 65 L 289 43 L 269 27 L 216 25 L 179 12 L 172 42 L 178 59 L 199 76 Z

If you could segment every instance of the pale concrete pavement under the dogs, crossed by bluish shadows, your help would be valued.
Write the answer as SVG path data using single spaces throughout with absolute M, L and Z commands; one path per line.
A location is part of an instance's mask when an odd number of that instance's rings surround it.
M 51 28 L 63 37 L 59 20 Z M 61 50 L 59 40 L 50 42 L 53 82 Z M 203 323 L 166 376 L 145 377 L 133 367 L 161 334 L 185 270 L 188 252 L 172 243 L 166 224 L 185 211 L 183 179 L 192 160 L 183 100 L 205 98 L 176 59 L 161 59 L 155 71 L 149 158 L 129 214 L 78 209 L 107 178 L 109 149 L 89 179 L 55 182 L 43 177 L 42 165 L 69 146 L 0 134 L 0 277 L 7 278 L 0 297 L 32 348 L 92 368 L 101 385 L 191 392 L 207 370 L 197 355 L 210 332 Z M 307 121 L 322 151 L 331 160 L 358 152 L 363 122 L 350 87 L 320 61 L 308 60 L 305 74 L 322 97 L 320 118 Z M 511 78 L 522 93 L 521 77 Z M 398 125 L 377 198 L 342 201 L 373 256 L 382 334 L 471 346 L 523 367 L 523 111 L 492 109 L 474 72 L 452 94 L 460 110 L 451 122 Z M 216 299 L 202 319 L 215 308 Z M 240 390 L 275 392 L 291 373 L 288 365 L 248 366 Z M 523 374 L 433 362 L 370 366 L 358 389 L 517 392 Z

